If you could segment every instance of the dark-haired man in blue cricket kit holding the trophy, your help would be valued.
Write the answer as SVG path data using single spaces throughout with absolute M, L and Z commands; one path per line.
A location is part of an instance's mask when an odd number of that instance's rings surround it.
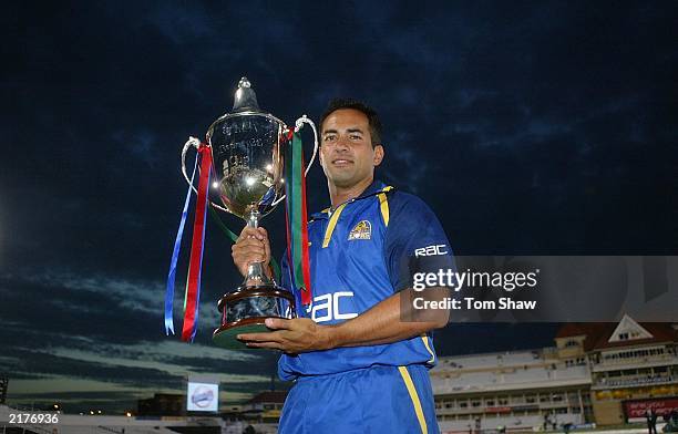
M 267 319 L 273 332 L 238 339 L 285 353 L 279 375 L 296 384 L 281 433 L 438 433 L 430 331 L 449 312 L 414 322 L 405 307 L 413 272 L 453 266 L 450 245 L 423 202 L 374 180 L 384 148 L 372 108 L 335 100 L 319 134 L 331 207 L 309 223 L 314 301 L 301 307 L 284 255 L 281 286 L 294 290 L 300 318 Z M 267 265 L 266 230 L 245 228 L 233 258 L 242 273 Z

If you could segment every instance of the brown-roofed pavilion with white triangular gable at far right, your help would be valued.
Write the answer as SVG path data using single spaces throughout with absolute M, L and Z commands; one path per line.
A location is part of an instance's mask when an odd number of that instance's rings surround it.
M 598 424 L 643 420 L 650 409 L 660 416 L 678 410 L 676 326 L 624 317 L 617 324 L 568 324 L 556 342 L 586 353 Z

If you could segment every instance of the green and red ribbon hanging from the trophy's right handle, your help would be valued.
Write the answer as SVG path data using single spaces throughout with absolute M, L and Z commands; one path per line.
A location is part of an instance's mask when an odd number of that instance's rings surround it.
M 292 283 L 301 293 L 301 303 L 308 306 L 312 300 L 310 283 L 310 260 L 308 254 L 308 213 L 306 206 L 306 165 L 304 146 L 298 133 L 290 132 L 285 159 L 285 195 L 287 223 L 287 255 Z M 315 155 L 314 155 L 315 156 Z M 311 159 L 312 162 L 312 159 Z

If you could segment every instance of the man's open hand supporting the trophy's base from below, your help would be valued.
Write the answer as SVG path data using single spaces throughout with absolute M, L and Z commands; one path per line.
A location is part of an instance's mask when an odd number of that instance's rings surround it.
M 317 324 L 310 318 L 267 318 L 266 327 L 275 331 L 238 334 L 237 339 L 249 348 L 270 348 L 291 354 L 332 348 L 331 326 Z

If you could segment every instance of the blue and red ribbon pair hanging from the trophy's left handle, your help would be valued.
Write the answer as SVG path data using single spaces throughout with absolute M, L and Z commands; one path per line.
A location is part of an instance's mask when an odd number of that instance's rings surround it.
M 191 138 L 191 141 L 196 141 Z M 188 143 L 187 143 L 188 144 Z M 207 195 L 209 189 L 209 174 L 212 172 L 212 149 L 209 146 L 201 143 L 197 146 L 198 156 L 196 157 L 195 166 L 197 167 L 199 159 L 199 178 L 197 188 L 197 202 L 195 205 L 195 217 L 193 221 L 193 239 L 191 241 L 191 259 L 188 261 L 188 278 L 186 280 L 186 291 L 184 296 L 184 323 L 182 327 L 182 340 L 193 341 L 197 330 L 198 309 L 201 301 L 201 275 L 203 265 L 203 251 L 205 246 L 205 220 L 207 216 Z M 167 275 L 167 289 L 165 293 L 165 332 L 174 334 L 174 319 L 172 316 L 174 301 L 174 278 L 176 276 L 176 262 L 182 244 L 182 234 L 186 223 L 188 203 L 191 200 L 191 190 L 193 187 L 193 178 L 195 176 L 195 167 L 191 176 L 191 184 L 182 219 L 174 244 L 174 251 Z

